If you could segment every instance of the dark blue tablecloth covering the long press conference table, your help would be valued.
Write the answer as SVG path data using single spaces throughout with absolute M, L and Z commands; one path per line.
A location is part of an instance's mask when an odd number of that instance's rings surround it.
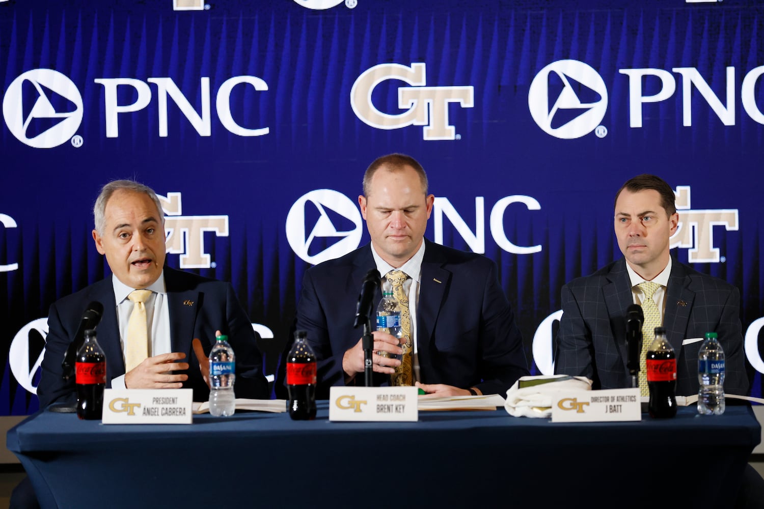
M 7 443 L 43 507 L 711 507 L 730 504 L 761 437 L 747 407 L 609 424 L 503 409 L 415 423 L 328 415 L 326 401 L 312 421 L 253 412 L 185 426 L 40 411 Z

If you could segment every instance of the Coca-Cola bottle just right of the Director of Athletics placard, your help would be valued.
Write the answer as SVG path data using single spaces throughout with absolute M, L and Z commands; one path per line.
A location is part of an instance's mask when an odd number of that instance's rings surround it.
M 650 417 L 674 417 L 676 415 L 676 355 L 666 339 L 666 330 L 656 327 L 656 339 L 652 341 L 645 359 L 647 386 L 650 401 L 647 409 Z

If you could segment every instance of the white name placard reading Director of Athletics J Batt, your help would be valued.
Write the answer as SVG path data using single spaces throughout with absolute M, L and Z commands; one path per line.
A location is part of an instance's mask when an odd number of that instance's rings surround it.
M 552 422 L 642 420 L 639 388 L 561 392 L 552 400 Z

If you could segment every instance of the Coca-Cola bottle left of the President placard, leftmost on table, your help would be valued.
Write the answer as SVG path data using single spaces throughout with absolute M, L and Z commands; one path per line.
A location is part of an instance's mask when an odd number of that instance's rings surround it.
M 75 362 L 77 384 L 77 417 L 100 419 L 103 411 L 103 389 L 106 387 L 106 356 L 95 340 L 95 330 L 85 330 L 85 342 Z

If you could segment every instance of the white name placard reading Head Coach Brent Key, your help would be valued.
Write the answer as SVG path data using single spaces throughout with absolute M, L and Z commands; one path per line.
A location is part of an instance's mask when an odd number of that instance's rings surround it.
M 419 420 L 416 387 L 332 387 L 329 420 Z

